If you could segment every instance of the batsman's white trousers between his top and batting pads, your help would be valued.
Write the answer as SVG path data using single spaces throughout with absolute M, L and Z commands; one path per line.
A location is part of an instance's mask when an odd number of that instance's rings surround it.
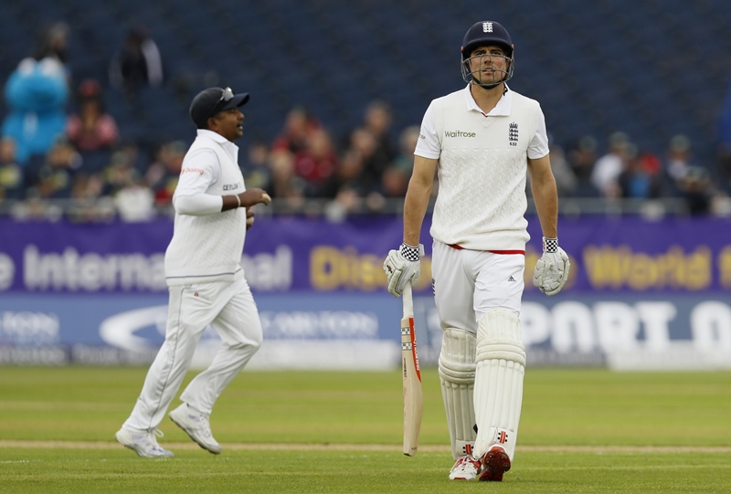
M 520 317 L 525 256 L 456 249 L 438 240 L 432 246 L 431 274 L 441 328 L 477 334 L 491 310 Z

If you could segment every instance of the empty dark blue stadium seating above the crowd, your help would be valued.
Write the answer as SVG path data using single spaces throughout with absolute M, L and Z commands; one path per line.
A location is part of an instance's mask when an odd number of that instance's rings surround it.
M 160 47 L 167 80 L 134 105 L 107 90 L 124 136 L 190 140 L 188 101 L 214 84 L 252 94 L 252 140 L 270 142 L 298 104 L 340 136 L 376 99 L 392 105 L 397 132 L 418 123 L 431 99 L 461 89 L 461 37 L 483 18 L 513 34 L 511 86 L 541 101 L 557 142 L 592 134 L 604 147 L 620 130 L 662 155 L 670 137 L 684 133 L 696 155 L 712 161 L 731 72 L 726 0 L 26 0 L 0 17 L 0 73 L 32 52 L 39 27 L 65 20 L 74 79 L 107 85 L 127 28 L 142 24 Z

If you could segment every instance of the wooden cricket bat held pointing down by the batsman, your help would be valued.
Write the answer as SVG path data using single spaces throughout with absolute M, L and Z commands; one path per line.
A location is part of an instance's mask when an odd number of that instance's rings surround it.
M 401 320 L 401 363 L 404 377 L 404 455 L 413 457 L 418 449 L 418 432 L 424 406 L 421 392 L 421 371 L 418 368 L 417 338 L 414 331 L 414 299 L 411 283 L 401 295 L 404 317 Z

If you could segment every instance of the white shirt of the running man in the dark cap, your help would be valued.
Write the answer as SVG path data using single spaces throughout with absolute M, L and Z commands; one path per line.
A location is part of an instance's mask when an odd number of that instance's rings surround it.
M 217 132 L 199 129 L 173 195 L 175 230 L 165 252 L 169 286 L 243 276 L 246 209 L 221 212 L 221 207 L 223 195 L 244 190 L 238 146 Z

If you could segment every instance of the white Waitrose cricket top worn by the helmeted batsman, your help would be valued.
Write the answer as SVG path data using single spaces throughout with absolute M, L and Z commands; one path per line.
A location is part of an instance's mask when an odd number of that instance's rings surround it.
M 468 84 L 431 101 L 414 154 L 439 160 L 434 239 L 474 250 L 524 250 L 527 159 L 548 154 L 537 101 L 508 90 L 484 114 Z

